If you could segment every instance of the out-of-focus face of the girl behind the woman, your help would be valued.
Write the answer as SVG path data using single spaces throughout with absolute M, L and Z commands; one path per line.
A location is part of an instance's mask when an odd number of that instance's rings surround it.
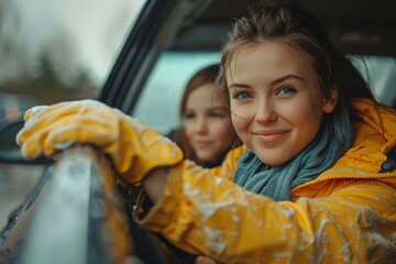
M 184 112 L 185 133 L 197 157 L 202 162 L 217 161 L 234 141 L 230 112 L 213 84 L 191 91 Z

